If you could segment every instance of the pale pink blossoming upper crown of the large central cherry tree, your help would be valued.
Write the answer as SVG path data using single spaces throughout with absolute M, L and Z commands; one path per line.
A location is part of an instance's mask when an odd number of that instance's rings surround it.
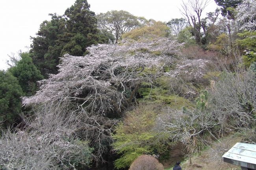
M 168 38 L 141 42 L 127 40 L 122 44 L 91 46 L 83 57 L 65 55 L 61 58 L 59 73 L 40 81 L 40 91 L 24 98 L 23 103 L 39 104 L 63 97 L 90 103 L 97 95 L 102 99 L 112 93 L 113 102 L 120 104 L 125 102 L 124 97 L 129 97 L 122 95 L 124 92 L 155 76 L 146 73 L 145 68 L 157 68 L 159 73 L 156 74 L 161 74 L 163 66 L 178 54 L 180 47 L 182 44 Z M 109 103 L 108 108 L 112 108 L 111 105 L 113 103 Z

